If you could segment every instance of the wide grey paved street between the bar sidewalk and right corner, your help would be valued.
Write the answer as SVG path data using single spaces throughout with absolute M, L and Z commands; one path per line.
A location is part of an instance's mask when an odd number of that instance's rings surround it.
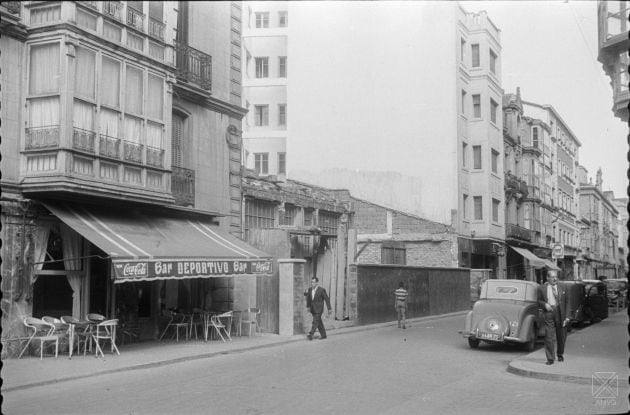
M 462 317 L 332 335 L 6 393 L 6 414 L 616 413 L 590 385 L 506 372 L 525 352 L 457 334 Z M 570 339 L 570 338 L 569 338 Z M 570 359 L 571 356 L 567 356 Z M 604 408 L 602 405 L 609 405 Z

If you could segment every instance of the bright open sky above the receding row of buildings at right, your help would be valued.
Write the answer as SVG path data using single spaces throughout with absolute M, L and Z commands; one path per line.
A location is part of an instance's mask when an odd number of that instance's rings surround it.
M 552 105 L 582 143 L 589 177 L 601 167 L 603 190 L 626 197 L 627 124 L 614 117 L 612 88 L 597 61 L 596 1 L 464 1 L 501 30 L 503 89 Z

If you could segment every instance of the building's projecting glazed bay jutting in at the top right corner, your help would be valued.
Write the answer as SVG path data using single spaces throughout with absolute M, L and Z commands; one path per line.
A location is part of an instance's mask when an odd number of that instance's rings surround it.
M 612 110 L 616 117 L 628 121 L 628 38 L 630 23 L 630 1 L 597 2 L 597 40 L 599 53 L 597 60 L 610 77 L 613 90 Z

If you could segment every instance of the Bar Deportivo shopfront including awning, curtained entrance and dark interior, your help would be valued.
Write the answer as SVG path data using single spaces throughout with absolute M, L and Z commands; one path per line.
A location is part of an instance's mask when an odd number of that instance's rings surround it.
M 5 356 L 19 352 L 27 316 L 98 313 L 118 318 L 132 339 L 154 339 L 168 310 L 255 307 L 257 280 L 274 271 L 268 254 L 208 215 L 24 200 L 2 207 Z

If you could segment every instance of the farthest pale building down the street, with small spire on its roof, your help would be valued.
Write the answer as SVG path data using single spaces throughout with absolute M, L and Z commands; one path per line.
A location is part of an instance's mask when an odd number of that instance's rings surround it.
M 588 171 L 584 166 L 579 166 L 578 178 L 582 222 L 579 276 L 581 279 L 595 279 L 601 276 L 622 278 L 623 276 L 618 275 L 619 211 L 613 202 L 614 197 L 602 190 L 601 169 L 597 171 L 595 183 L 588 177 Z

